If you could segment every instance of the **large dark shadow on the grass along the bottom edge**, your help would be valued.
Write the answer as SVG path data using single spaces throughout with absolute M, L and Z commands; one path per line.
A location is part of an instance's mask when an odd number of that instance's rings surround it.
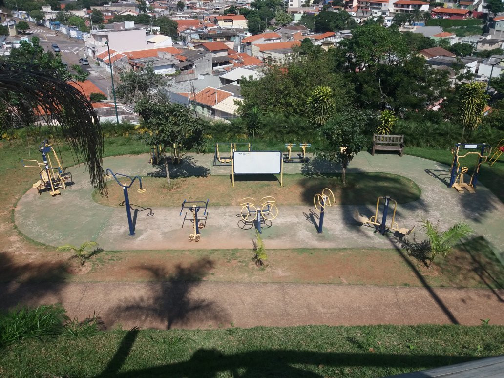
M 201 378 L 217 377 L 227 373 L 226 376 L 242 378 L 263 376 L 319 378 L 328 376 L 328 374 L 338 376 L 338 373 L 342 372 L 337 369 L 346 367 L 376 367 L 387 374 L 388 372 L 395 373 L 404 370 L 414 371 L 419 368 L 445 366 L 474 359 L 470 356 L 311 352 L 278 349 L 224 354 L 217 349 L 198 349 L 191 359 L 184 362 L 115 374 L 104 372 L 98 376 Z

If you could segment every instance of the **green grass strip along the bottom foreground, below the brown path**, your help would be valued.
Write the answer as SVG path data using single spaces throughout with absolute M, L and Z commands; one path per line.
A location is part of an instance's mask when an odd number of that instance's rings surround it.
M 502 340 L 498 326 L 119 330 L 11 345 L 0 375 L 377 377 L 499 355 Z

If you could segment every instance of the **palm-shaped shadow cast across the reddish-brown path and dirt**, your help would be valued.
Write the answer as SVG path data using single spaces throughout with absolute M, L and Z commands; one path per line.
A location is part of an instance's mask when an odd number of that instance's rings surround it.
M 170 274 L 156 266 L 140 266 L 138 269 L 150 273 L 151 293 L 147 298 L 124 303 L 110 310 L 112 316 L 107 323 L 139 323 L 146 318 L 161 322 L 166 329 L 174 326 L 188 327 L 192 322 L 226 323 L 229 314 L 215 303 L 194 298 L 201 279 L 213 268 L 209 259 L 201 259 L 188 267 L 178 265 Z M 200 322 L 201 323 L 201 322 Z

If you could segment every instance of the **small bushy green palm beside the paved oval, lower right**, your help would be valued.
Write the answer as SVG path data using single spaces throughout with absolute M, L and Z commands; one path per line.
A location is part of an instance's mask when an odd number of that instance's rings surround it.
M 427 240 L 420 243 L 411 243 L 408 240 L 404 240 L 403 244 L 410 250 L 413 256 L 420 255 L 422 259 L 428 261 L 426 263 L 427 267 L 430 267 L 430 264 L 437 255 L 447 257 L 452 247 L 458 241 L 473 233 L 471 227 L 465 222 L 458 222 L 448 230 L 441 232 L 439 231 L 439 222 L 434 225 L 429 220 L 422 219 L 422 226 L 420 228 L 425 230 Z M 425 257 L 425 255 L 429 256 Z

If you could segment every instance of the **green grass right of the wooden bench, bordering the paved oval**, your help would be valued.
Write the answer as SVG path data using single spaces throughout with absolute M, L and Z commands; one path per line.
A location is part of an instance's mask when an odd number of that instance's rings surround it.
M 429 160 L 438 161 L 440 163 L 451 166 L 453 155 L 447 150 L 435 150 L 420 147 L 405 147 L 404 153 L 412 156 L 418 156 Z M 467 161 L 467 163 L 465 163 Z M 462 162 L 462 160 L 461 160 Z M 462 164 L 462 163 L 461 163 Z M 467 158 L 464 164 L 472 172 L 476 164 L 475 158 Z M 450 172 L 448 172 L 449 174 Z M 497 161 L 491 167 L 488 163 L 481 164 L 478 181 L 485 185 L 497 198 L 504 202 L 504 159 Z

